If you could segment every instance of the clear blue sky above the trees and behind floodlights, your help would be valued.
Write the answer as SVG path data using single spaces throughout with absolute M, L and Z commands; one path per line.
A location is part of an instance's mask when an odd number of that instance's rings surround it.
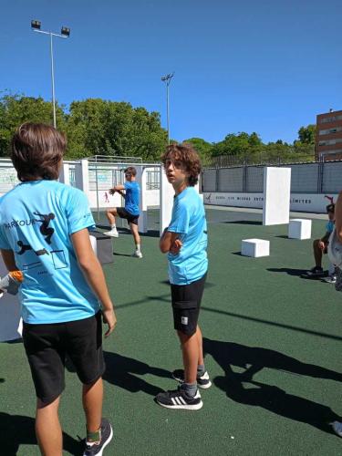
M 292 142 L 316 114 L 342 109 L 341 0 L 0 0 L 0 90 L 129 101 L 161 112 L 172 71 L 171 138 L 256 131 Z

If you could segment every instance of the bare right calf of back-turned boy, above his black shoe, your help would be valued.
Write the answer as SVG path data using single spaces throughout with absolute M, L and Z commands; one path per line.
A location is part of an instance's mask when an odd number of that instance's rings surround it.
M 86 413 L 87 430 L 96 432 L 101 426 L 103 382 L 102 378 L 90 385 L 83 385 L 83 409 Z

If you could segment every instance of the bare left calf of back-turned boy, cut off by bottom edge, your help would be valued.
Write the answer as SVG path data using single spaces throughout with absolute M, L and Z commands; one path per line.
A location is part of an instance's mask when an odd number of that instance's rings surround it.
M 58 420 L 59 399 L 44 405 L 36 401 L 36 440 L 43 456 L 61 456 L 63 451 L 62 430 Z

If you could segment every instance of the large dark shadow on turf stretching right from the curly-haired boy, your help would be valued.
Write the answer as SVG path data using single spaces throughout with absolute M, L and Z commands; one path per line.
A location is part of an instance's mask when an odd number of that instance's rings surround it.
M 229 399 L 245 405 L 262 407 L 277 415 L 310 424 L 328 433 L 333 433 L 329 423 L 341 420 L 341 417 L 325 405 L 288 394 L 284 389 L 255 381 L 253 377 L 263 368 L 274 368 L 296 375 L 337 381 L 342 381 L 342 374 L 313 364 L 302 363 L 275 350 L 246 347 L 233 342 L 203 338 L 203 350 L 223 368 L 225 377 L 216 377 L 213 382 L 218 388 L 223 389 Z M 243 373 L 236 373 L 232 366 L 245 370 Z

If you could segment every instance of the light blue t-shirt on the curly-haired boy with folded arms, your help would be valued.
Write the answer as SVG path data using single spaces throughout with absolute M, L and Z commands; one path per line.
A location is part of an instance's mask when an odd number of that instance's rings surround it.
M 174 285 L 188 285 L 202 278 L 208 269 L 207 222 L 203 202 L 193 187 L 175 196 L 168 231 L 180 233 L 179 254 L 168 254 L 169 279 Z

